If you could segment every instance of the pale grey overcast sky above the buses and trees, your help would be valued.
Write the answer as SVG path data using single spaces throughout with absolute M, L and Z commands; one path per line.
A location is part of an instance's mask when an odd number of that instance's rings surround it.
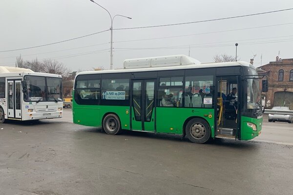
M 113 29 L 234 17 L 293 8 L 293 0 L 95 0 L 112 17 Z M 90 0 L 0 0 L 0 51 L 33 47 L 104 31 L 108 13 Z M 172 38 L 170 38 L 172 37 Z M 160 38 L 160 39 L 156 39 Z M 148 40 L 142 40 L 148 39 Z M 254 65 L 293 58 L 293 10 L 236 19 L 130 30 L 113 30 L 114 68 L 124 59 L 185 54 L 201 62 L 217 54 Z M 62 50 L 62 51 L 61 51 Z M 0 52 L 0 66 L 56 59 L 72 71 L 110 67 L 110 31 L 33 49 Z

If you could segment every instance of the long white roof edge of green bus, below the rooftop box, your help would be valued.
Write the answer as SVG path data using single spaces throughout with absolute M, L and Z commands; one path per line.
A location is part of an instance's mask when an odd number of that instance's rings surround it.
M 182 69 L 185 70 L 185 69 L 194 69 L 194 68 L 215 68 L 215 67 L 230 67 L 230 66 L 251 67 L 252 65 L 250 63 L 248 63 L 248 62 L 245 62 L 245 61 L 220 62 L 220 63 L 214 63 L 213 62 L 213 63 L 200 63 L 200 64 L 181 65 L 181 66 L 164 66 L 164 67 L 149 67 L 149 68 L 84 71 L 84 72 L 78 73 L 76 76 L 78 76 L 78 75 L 86 75 L 86 74 L 149 72 L 149 71 L 162 71 L 162 70 L 182 70 Z

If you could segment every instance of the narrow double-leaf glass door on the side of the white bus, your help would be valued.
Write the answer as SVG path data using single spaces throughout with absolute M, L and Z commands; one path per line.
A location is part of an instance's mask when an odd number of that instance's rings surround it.
M 21 80 L 8 80 L 8 118 L 21 118 Z

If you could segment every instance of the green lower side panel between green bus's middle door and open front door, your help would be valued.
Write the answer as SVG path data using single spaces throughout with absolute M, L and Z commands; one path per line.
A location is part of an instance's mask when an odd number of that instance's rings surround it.
M 209 118 L 208 115 L 212 117 Z M 189 117 L 202 117 L 207 120 L 211 129 L 211 137 L 214 137 L 214 109 L 208 108 L 158 107 L 156 120 L 157 132 L 183 134 L 184 122 Z

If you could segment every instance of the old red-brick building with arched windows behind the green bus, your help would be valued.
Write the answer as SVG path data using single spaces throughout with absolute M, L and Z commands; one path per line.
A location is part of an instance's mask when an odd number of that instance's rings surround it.
M 265 108 L 288 106 L 293 110 L 293 59 L 279 59 L 258 67 L 260 75 L 268 76 Z

